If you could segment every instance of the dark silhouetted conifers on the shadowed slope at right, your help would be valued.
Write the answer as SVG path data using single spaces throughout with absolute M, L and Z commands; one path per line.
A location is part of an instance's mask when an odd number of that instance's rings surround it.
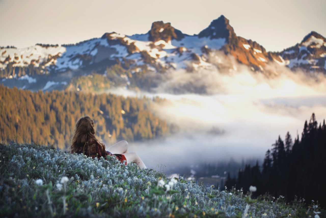
M 309 123 L 305 121 L 301 141 L 299 135 L 294 143 L 289 132 L 285 141 L 279 136 L 272 149 L 268 149 L 262 165 L 246 165 L 238 172 L 238 178 L 227 178 L 226 186 L 248 191 L 250 185 L 257 187 L 255 195 L 269 193 L 280 195 L 292 201 L 295 195 L 305 199 L 304 203 L 314 200 L 326 206 L 326 125 L 316 121 L 312 114 Z

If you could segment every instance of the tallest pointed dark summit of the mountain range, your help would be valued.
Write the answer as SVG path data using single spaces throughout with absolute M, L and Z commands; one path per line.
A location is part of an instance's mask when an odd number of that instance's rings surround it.
M 210 39 L 225 38 L 229 42 L 231 38 L 236 37 L 233 27 L 229 23 L 230 21 L 221 15 L 216 20 L 213 20 L 206 29 L 202 30 L 198 36 L 200 38 L 210 37 Z

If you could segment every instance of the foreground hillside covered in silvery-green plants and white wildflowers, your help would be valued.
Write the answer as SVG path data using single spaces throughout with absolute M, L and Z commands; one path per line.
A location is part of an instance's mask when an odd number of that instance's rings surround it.
M 251 201 L 241 190 L 183 179 L 167 191 L 172 183 L 163 172 L 50 146 L 0 144 L 0 158 L 0 217 L 241 217 Z M 313 217 L 317 211 L 272 200 L 251 202 L 247 217 Z

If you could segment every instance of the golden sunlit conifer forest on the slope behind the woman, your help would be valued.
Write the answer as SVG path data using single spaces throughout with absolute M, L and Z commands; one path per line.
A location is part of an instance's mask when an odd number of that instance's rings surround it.
M 162 101 L 154 98 L 153 101 Z M 89 115 L 104 142 L 151 139 L 169 132 L 150 99 L 68 91 L 31 92 L 0 86 L 0 141 L 67 149 L 76 121 Z

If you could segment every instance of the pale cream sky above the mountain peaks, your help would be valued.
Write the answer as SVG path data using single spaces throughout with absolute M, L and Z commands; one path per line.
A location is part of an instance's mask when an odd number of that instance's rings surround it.
M 0 46 L 146 33 L 155 21 L 193 35 L 223 14 L 238 36 L 282 51 L 312 30 L 326 37 L 325 10 L 325 0 L 0 0 Z

